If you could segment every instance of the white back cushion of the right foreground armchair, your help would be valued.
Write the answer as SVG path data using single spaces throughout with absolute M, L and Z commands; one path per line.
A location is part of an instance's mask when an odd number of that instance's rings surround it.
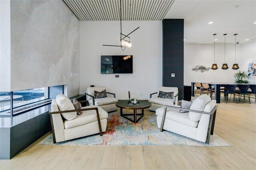
M 196 100 L 192 103 L 190 109 L 197 111 L 204 111 L 204 107 L 207 103 L 211 101 L 211 97 L 208 95 L 200 95 L 196 98 Z M 189 118 L 192 121 L 200 121 L 202 113 L 189 112 Z

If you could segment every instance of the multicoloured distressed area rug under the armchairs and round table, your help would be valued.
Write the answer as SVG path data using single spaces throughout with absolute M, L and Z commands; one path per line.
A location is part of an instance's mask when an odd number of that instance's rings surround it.
M 132 110 L 124 110 L 124 113 Z M 231 146 L 217 136 L 210 136 L 210 144 L 164 130 L 160 132 L 154 112 L 144 111 L 138 123 L 120 117 L 120 111 L 109 113 L 106 132 L 102 136 L 94 134 L 54 144 L 52 134 L 44 138 L 40 145 L 187 145 L 187 146 Z

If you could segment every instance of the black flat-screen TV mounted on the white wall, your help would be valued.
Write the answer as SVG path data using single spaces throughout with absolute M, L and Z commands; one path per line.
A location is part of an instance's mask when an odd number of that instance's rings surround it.
M 101 73 L 132 73 L 132 55 L 102 55 Z

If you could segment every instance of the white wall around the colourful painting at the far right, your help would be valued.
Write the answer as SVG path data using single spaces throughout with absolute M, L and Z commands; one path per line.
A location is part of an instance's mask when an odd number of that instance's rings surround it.
M 256 60 L 256 41 L 243 43 L 242 44 L 242 70 L 248 70 L 248 60 Z M 256 77 L 249 77 L 250 83 L 256 84 Z

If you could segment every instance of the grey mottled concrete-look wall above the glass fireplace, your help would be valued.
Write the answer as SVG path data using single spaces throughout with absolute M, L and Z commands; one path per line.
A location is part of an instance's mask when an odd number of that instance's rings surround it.
M 79 93 L 79 20 L 62 0 L 11 1 L 11 91 L 67 84 Z

